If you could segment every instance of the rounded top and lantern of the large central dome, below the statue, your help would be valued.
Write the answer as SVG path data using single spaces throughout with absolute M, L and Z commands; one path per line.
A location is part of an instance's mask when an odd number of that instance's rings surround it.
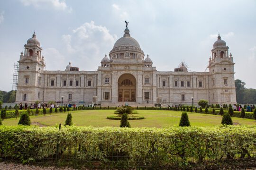
M 113 48 L 120 46 L 134 46 L 140 48 L 139 43 L 130 36 L 128 28 L 125 29 L 124 36 L 122 38 L 119 38 L 119 40 L 115 43 Z

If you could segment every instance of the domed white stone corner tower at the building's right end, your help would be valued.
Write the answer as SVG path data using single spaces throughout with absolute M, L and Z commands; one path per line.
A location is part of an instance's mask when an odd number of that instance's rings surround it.
M 209 59 L 209 102 L 236 104 L 234 62 L 229 47 L 221 40 L 220 35 L 213 44 L 212 56 Z

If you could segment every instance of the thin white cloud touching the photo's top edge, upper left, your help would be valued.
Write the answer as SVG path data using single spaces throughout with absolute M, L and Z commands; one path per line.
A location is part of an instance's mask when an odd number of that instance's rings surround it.
M 72 12 L 72 8 L 68 7 L 65 0 L 20 0 L 25 6 L 34 6 L 36 8 L 52 7 L 55 10 Z

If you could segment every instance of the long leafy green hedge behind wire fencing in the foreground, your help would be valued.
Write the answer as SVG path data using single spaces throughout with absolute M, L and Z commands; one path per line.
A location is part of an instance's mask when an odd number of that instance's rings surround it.
M 187 167 L 255 157 L 256 126 L 0 126 L 0 158 L 104 169 Z

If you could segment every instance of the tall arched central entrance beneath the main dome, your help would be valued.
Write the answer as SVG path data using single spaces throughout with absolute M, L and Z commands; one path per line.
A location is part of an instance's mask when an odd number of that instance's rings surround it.
M 118 101 L 136 102 L 136 79 L 131 74 L 123 74 L 118 79 Z

